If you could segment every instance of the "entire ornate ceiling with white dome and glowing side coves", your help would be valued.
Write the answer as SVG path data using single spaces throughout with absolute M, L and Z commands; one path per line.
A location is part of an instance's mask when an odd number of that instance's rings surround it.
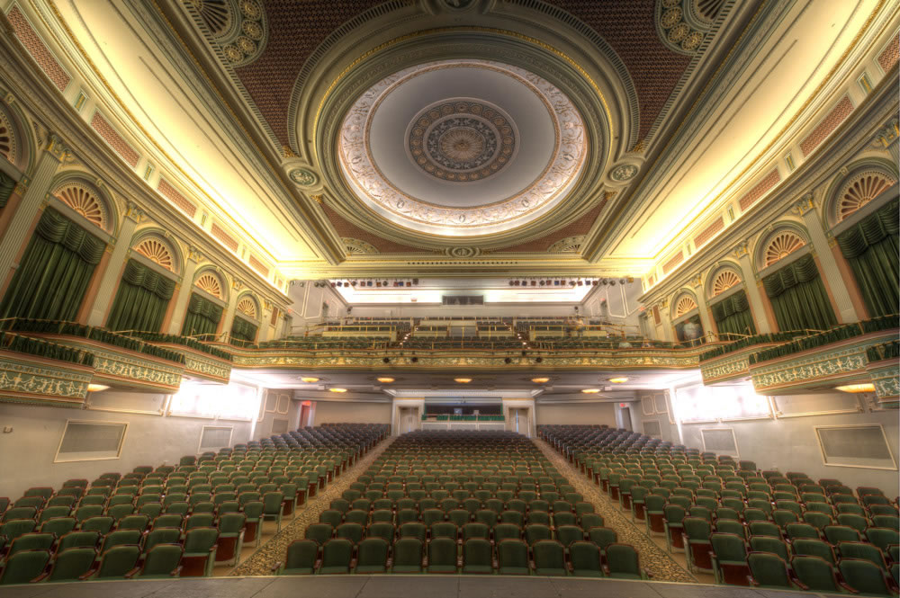
M 788 177 L 897 20 L 886 0 L 27 8 L 198 225 L 285 278 L 656 272 Z

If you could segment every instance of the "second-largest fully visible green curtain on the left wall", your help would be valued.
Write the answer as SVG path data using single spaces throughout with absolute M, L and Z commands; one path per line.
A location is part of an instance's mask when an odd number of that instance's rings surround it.
M 129 260 L 121 274 L 106 327 L 159 332 L 173 292 L 175 281 L 136 260 Z

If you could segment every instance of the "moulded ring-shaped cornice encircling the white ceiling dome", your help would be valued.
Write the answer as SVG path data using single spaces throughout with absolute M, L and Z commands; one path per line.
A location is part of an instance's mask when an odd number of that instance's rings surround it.
M 567 94 L 581 112 L 589 135 L 590 155 L 578 183 L 559 206 L 541 219 L 527 225 L 481 237 L 448 239 L 401 228 L 375 215 L 347 186 L 338 165 L 338 128 L 349 105 L 365 89 L 383 76 L 431 59 L 478 58 L 526 67 L 544 77 Z M 335 85 L 335 84 L 333 84 Z M 318 121 L 315 147 L 320 169 L 329 185 L 329 205 L 356 226 L 376 231 L 383 237 L 397 238 L 404 245 L 442 250 L 447 245 L 467 245 L 487 249 L 522 243 L 546 235 L 549 230 L 582 216 L 603 197 L 602 175 L 610 148 L 608 108 L 602 96 L 589 92 L 590 85 L 563 58 L 527 38 L 509 31 L 485 28 L 445 28 L 421 31 L 366 58 L 338 82 L 324 99 Z

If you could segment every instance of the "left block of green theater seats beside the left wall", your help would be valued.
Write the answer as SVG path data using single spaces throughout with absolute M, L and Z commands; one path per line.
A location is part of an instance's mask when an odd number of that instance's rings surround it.
M 0 585 L 210 576 L 383 441 L 387 426 L 331 424 L 0 497 Z

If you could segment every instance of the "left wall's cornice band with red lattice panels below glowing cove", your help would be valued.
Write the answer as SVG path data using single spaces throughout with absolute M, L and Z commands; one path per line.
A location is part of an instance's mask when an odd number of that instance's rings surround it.
M 4 17 L 5 19 L 5 17 Z M 165 223 L 173 235 L 186 245 L 202 247 L 207 256 L 241 278 L 252 281 L 252 289 L 259 296 L 277 297 L 280 306 L 289 306 L 291 299 L 281 290 L 260 283 L 259 275 L 234 254 L 220 249 L 192 220 L 157 197 L 139 174 L 121 161 L 112 148 L 97 138 L 81 117 L 68 105 L 56 87 L 49 85 L 40 71 L 31 67 L 30 60 L 16 38 L 0 36 L 0 78 L 17 98 L 17 103 L 31 118 L 53 131 L 66 147 L 76 147 L 78 161 L 98 176 L 116 195 L 129 198 L 154 219 Z

